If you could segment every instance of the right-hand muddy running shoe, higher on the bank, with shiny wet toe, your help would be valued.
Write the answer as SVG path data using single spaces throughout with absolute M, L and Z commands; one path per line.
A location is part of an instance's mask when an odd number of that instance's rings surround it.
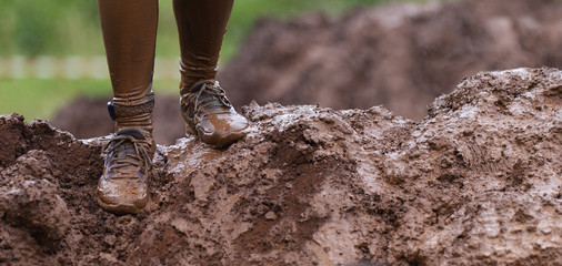
M 224 90 L 213 80 L 195 83 L 191 89 L 180 84 L 181 115 L 185 132 L 194 134 L 214 149 L 225 147 L 245 135 L 248 121 L 230 104 Z

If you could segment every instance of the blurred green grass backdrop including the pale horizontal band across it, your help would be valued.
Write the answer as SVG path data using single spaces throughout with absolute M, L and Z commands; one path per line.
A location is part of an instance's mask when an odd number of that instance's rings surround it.
M 257 19 L 305 12 L 341 14 L 381 0 L 237 0 L 221 52 L 229 62 Z M 177 94 L 178 33 L 171 0 L 160 0 L 154 91 Z M 50 120 L 78 95 L 111 94 L 97 1 L 2 0 L 0 114 Z

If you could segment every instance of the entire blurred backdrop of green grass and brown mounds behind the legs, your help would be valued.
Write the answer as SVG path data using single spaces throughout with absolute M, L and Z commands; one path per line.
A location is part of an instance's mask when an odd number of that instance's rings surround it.
M 77 137 L 113 131 L 97 1 L 2 0 L 0 114 L 46 119 Z M 181 137 L 178 34 L 160 0 L 153 90 L 158 143 Z M 235 0 L 219 81 L 240 111 L 279 102 L 384 105 L 423 119 L 481 71 L 562 68 L 562 0 Z

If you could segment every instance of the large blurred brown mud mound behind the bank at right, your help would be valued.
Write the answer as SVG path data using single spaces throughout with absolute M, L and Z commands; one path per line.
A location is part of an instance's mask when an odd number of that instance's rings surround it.
M 235 105 L 384 104 L 411 119 L 480 71 L 562 68 L 562 1 L 465 0 L 260 21 L 220 79 Z

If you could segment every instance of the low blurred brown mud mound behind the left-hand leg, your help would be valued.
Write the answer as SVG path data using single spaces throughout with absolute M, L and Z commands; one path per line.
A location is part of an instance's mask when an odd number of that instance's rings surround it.
M 179 96 L 157 95 L 153 120 L 154 140 L 158 144 L 173 144 L 185 135 L 183 119 L 179 112 Z M 113 122 L 109 117 L 107 103 L 110 98 L 79 98 L 61 108 L 52 124 L 71 132 L 76 137 L 89 139 L 113 133 Z

